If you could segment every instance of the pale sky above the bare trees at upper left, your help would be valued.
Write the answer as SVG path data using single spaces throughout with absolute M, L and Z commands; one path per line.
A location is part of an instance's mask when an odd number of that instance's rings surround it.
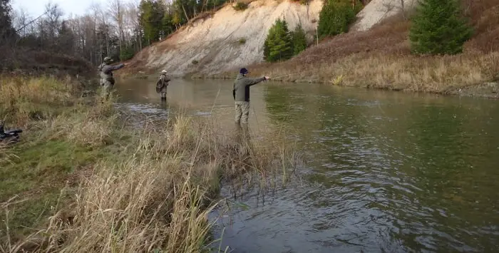
M 52 4 L 58 4 L 58 6 L 63 10 L 64 16 L 67 17 L 69 14 L 81 15 L 85 14 L 88 8 L 93 2 L 99 4 L 105 4 L 104 0 L 12 0 L 12 9 L 14 11 L 18 9 L 26 10 L 30 16 L 37 17 L 45 11 L 45 5 L 51 2 Z

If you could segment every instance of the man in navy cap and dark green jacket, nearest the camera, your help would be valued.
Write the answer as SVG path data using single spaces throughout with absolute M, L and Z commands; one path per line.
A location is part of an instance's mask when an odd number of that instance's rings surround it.
M 237 124 L 247 124 L 249 116 L 249 87 L 254 86 L 262 81 L 269 80 L 268 76 L 262 78 L 247 78 L 246 75 L 249 71 L 246 68 L 241 68 L 239 75 L 237 75 L 234 82 L 234 89 L 232 95 L 234 96 L 236 104 L 236 117 Z

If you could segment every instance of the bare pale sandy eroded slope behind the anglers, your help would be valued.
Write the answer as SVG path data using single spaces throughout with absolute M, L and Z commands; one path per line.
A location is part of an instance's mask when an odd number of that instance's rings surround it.
M 286 19 L 289 29 L 301 23 L 313 41 L 321 7 L 320 0 L 313 0 L 309 5 L 258 0 L 252 1 L 244 11 L 236 11 L 227 4 L 215 14 L 200 17 L 165 41 L 140 51 L 130 62 L 128 71 L 165 68 L 172 76 L 184 76 L 218 73 L 259 63 L 267 32 L 276 19 Z

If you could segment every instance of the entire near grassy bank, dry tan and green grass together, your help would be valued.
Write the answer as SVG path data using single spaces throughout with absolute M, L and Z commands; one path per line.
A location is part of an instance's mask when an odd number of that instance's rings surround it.
M 70 78 L 1 78 L 0 117 L 24 133 L 0 144 L 0 252 L 200 252 L 221 178 L 263 183 L 294 163 L 284 138 L 182 115 L 139 130 L 80 92 Z

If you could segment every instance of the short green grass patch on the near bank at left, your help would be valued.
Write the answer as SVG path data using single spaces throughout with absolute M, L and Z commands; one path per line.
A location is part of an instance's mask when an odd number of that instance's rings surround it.
M 14 201 L 24 200 L 9 215 L 10 229 L 19 229 L 14 234 L 36 227 L 40 215 L 46 215 L 56 205 L 66 182 L 76 187 L 76 182 L 71 182 L 73 178 L 81 170 L 91 169 L 109 150 L 82 147 L 67 140 L 36 140 L 36 133 L 33 135 L 23 135 L 26 140 L 12 147 L 16 157 L 0 163 L 0 202 L 12 197 L 16 197 Z M 3 217 L 4 212 L 0 210 Z

